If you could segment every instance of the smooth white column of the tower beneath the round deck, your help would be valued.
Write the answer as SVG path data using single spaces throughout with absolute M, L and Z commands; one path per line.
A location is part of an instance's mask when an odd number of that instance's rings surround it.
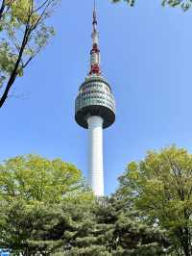
M 103 118 L 90 116 L 88 123 L 88 183 L 96 196 L 104 195 Z

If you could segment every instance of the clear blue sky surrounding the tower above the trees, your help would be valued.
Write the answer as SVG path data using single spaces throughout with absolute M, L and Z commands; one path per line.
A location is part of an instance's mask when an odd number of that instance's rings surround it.
M 116 97 L 116 122 L 105 130 L 105 189 L 114 192 L 127 164 L 149 149 L 192 148 L 191 11 L 137 0 L 135 8 L 98 0 L 103 73 Z M 87 131 L 74 101 L 88 71 L 92 1 L 62 1 L 57 36 L 0 109 L 0 160 L 36 153 L 60 157 L 86 176 Z

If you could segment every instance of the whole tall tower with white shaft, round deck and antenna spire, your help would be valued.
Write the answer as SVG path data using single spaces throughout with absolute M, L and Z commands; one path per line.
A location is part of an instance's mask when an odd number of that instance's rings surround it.
M 88 184 L 96 196 L 104 195 L 103 129 L 115 121 L 115 100 L 100 64 L 99 35 L 94 1 L 90 71 L 75 102 L 76 122 L 88 129 Z

